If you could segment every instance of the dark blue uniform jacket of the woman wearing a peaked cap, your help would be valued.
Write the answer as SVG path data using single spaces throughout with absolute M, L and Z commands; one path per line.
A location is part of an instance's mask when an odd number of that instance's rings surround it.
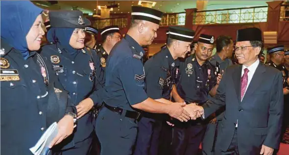
M 50 60 L 51 67 L 64 89 L 69 92 L 70 100 L 74 105 L 88 97 L 95 105 L 101 104 L 104 81 L 96 52 L 84 48 L 71 55 L 57 43 L 45 45 L 41 54 L 45 59 Z M 82 141 L 90 136 L 94 130 L 93 122 L 91 112 L 77 120 L 74 142 Z

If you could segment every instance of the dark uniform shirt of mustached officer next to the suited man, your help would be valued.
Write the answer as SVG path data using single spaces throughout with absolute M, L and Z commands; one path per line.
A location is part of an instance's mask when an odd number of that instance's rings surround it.
M 190 55 L 180 62 L 180 80 L 177 92 L 186 102 L 204 103 L 208 100 L 210 90 L 216 85 L 216 68 L 206 61 L 202 66 L 195 55 Z

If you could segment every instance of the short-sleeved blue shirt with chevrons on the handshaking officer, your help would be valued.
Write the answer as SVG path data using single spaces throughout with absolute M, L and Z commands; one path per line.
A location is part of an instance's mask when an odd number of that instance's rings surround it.
M 130 105 L 141 103 L 145 93 L 144 49 L 129 35 L 110 52 L 105 70 L 105 103 L 134 111 Z

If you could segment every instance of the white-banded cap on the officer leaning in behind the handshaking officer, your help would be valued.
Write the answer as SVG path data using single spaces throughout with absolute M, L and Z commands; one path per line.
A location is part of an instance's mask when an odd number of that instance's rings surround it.
M 185 27 L 170 26 L 169 38 L 184 42 L 192 42 L 194 31 Z

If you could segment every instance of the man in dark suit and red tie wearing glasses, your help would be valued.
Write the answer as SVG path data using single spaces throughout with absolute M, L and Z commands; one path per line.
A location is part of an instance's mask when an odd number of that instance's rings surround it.
M 226 105 L 217 155 L 272 155 L 280 144 L 282 73 L 260 63 L 263 43 L 259 28 L 238 30 L 235 50 L 240 65 L 226 69 L 216 96 L 198 109 L 199 114 L 204 112 L 203 118 L 207 118 Z

